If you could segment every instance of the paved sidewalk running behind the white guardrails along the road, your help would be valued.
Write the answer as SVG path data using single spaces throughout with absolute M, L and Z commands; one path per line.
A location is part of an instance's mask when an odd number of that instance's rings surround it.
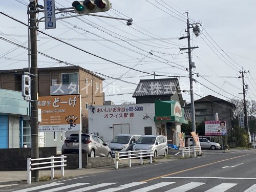
M 160 162 L 168 162 L 177 160 L 177 157 L 168 155 L 167 158 L 158 157 L 157 159 L 153 160 L 153 163 L 160 163 Z M 115 162 L 115 159 L 114 159 Z M 144 159 L 143 164 L 148 164 L 150 162 L 149 159 Z M 132 167 L 139 166 L 140 159 L 132 159 Z M 141 165 L 143 166 L 143 165 Z M 129 168 L 128 160 L 120 160 L 118 163 L 118 168 Z M 72 178 L 77 176 L 84 176 L 90 174 L 97 174 L 108 172 L 110 170 L 115 170 L 115 164 L 103 167 L 96 167 L 96 168 L 81 168 L 81 169 L 65 169 L 65 178 Z M 60 176 L 60 169 L 55 169 L 55 177 L 59 178 Z M 51 176 L 51 170 L 39 170 L 39 178 L 42 176 Z M 8 182 L 18 183 L 24 182 L 27 183 L 27 171 L 20 170 L 20 171 L 0 171 L 0 187 Z

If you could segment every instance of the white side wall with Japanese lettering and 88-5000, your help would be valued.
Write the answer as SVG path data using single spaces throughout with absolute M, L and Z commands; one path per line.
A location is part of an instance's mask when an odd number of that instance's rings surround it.
M 98 133 L 105 142 L 110 142 L 114 137 L 110 126 L 128 123 L 130 134 L 144 135 L 145 126 L 152 126 L 152 134 L 156 134 L 154 116 L 155 103 L 95 106 L 94 113 L 89 110 L 89 133 Z

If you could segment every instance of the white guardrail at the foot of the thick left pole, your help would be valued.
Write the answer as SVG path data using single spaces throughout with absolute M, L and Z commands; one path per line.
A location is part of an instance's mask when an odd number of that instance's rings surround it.
M 27 159 L 27 183 L 31 184 L 31 170 L 36 169 L 44 169 L 44 168 L 51 168 L 51 180 L 54 179 L 54 168 L 60 167 L 61 177 L 64 177 L 64 167 L 67 166 L 67 164 L 64 164 L 67 162 L 67 160 L 64 160 L 67 156 L 61 155 L 60 157 L 46 157 L 46 158 L 38 158 L 38 159 Z M 60 161 L 54 161 L 55 159 L 60 159 Z M 41 161 L 41 160 L 51 160 L 46 162 L 39 162 L 39 163 L 31 163 L 32 161 Z M 60 163 L 56 165 L 56 163 Z M 33 167 L 35 165 L 44 165 L 44 164 L 50 164 L 50 166 L 40 166 L 40 167 Z

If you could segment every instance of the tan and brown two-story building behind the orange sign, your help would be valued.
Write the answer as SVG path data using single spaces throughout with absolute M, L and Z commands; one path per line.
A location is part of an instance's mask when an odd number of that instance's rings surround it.
M 22 91 L 24 72 L 28 72 L 28 69 L 0 71 L 0 88 Z M 38 96 L 81 95 L 81 127 L 83 133 L 88 133 L 88 110 L 93 105 L 103 105 L 104 102 L 103 80 L 102 77 L 79 66 L 38 68 Z M 25 119 L 24 123 L 29 125 L 29 118 Z M 40 133 L 39 145 L 57 146 L 59 150 L 66 135 L 69 133 Z M 30 142 L 26 144 L 30 146 Z

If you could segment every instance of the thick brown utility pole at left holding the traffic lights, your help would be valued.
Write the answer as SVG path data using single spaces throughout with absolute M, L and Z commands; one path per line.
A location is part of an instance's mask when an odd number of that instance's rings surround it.
M 37 0 L 30 1 L 30 58 L 31 58 L 31 159 L 38 159 L 38 106 L 37 106 Z M 35 162 L 36 163 L 36 162 Z M 32 170 L 32 182 L 39 181 L 39 170 Z

